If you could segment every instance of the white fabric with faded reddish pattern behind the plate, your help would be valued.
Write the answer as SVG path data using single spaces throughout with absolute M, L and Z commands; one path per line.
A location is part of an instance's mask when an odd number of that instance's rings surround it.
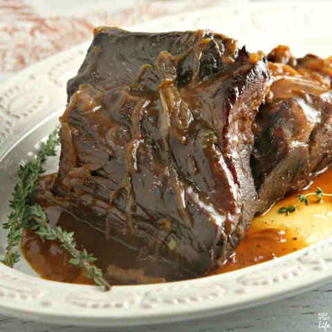
M 122 26 L 220 0 L 0 0 L 0 79 L 92 37 L 95 26 Z

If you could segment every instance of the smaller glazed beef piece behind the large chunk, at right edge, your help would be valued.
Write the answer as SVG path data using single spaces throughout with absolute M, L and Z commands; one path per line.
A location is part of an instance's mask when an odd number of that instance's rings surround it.
M 327 62 L 313 55 L 295 59 L 286 46 L 275 48 L 268 59 L 284 64 L 268 63 L 270 89 L 253 125 L 257 212 L 306 187 L 332 161 Z

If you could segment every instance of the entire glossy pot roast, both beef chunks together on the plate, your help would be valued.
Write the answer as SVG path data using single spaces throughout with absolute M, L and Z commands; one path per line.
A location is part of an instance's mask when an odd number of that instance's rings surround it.
M 204 275 L 331 163 L 327 62 L 282 46 L 268 59 L 210 30 L 95 29 L 67 85 L 53 194 L 138 251 L 139 270 L 110 262 L 117 280 Z

